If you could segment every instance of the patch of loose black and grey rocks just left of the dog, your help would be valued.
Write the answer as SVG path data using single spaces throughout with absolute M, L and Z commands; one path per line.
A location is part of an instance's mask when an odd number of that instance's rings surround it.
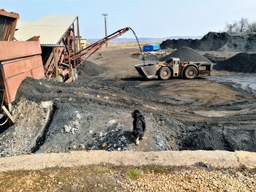
M 113 123 L 104 132 L 92 134 L 93 142 L 87 144 L 87 150 L 127 150 L 130 135 L 123 125 Z

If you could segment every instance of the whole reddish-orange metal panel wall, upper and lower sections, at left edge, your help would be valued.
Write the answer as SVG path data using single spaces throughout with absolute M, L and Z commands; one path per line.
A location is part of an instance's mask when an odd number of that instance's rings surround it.
M 0 69 L 4 101 L 10 104 L 26 77 L 45 77 L 39 42 L 0 42 Z

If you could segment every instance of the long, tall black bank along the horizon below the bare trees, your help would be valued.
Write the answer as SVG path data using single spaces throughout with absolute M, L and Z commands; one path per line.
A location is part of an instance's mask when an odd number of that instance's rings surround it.
M 236 52 L 256 52 L 256 33 L 227 34 L 209 32 L 202 39 L 167 39 L 161 49 L 191 47 L 195 50 L 219 50 Z

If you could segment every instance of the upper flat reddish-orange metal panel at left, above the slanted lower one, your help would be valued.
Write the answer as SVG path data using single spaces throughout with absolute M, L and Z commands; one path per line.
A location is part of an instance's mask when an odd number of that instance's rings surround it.
M 0 61 L 41 54 L 40 42 L 1 42 Z

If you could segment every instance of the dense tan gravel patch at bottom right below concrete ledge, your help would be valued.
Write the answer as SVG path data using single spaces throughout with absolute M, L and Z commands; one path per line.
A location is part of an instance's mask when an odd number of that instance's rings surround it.
M 138 180 L 128 180 L 122 185 L 124 191 L 255 191 L 255 182 L 256 175 L 249 172 L 181 169 L 142 173 Z

